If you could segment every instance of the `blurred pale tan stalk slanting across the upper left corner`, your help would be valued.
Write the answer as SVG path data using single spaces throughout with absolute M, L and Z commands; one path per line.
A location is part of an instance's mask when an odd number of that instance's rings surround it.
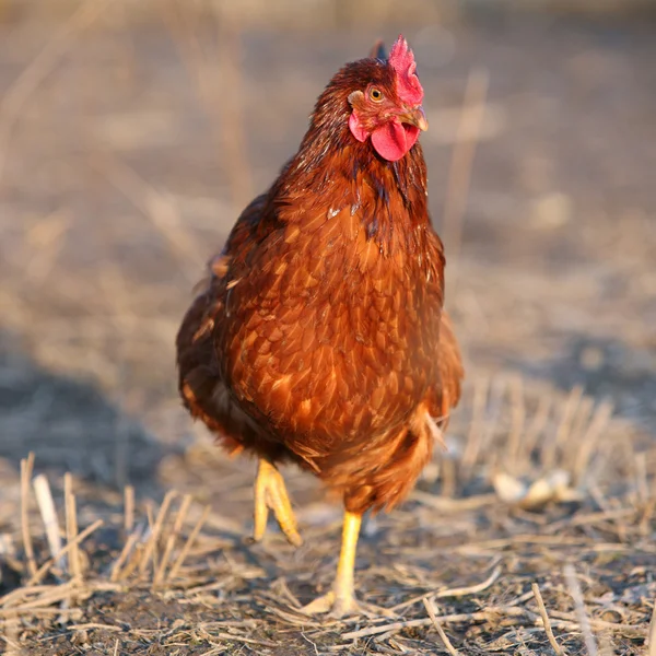
M 44 46 L 12 83 L 0 103 L 0 181 L 4 174 L 9 155 L 9 142 L 19 122 L 25 103 L 44 80 L 57 67 L 68 50 L 72 38 L 89 27 L 103 12 L 109 0 L 86 0 L 66 22 L 63 27 Z

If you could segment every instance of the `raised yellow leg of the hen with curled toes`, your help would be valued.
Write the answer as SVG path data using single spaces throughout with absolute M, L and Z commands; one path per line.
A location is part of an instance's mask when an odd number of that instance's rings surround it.
M 271 462 L 260 458 L 257 479 L 255 480 L 255 530 L 253 538 L 256 541 L 265 537 L 269 508 L 273 511 L 280 529 L 286 539 L 294 547 L 300 547 L 303 540 L 296 529 L 296 517 L 294 517 L 294 511 L 292 511 L 284 480 Z

